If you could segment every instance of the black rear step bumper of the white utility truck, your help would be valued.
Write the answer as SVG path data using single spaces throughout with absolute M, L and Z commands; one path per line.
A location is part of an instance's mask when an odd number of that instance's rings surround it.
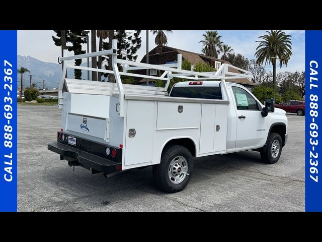
M 121 163 L 58 142 L 49 143 L 48 150 L 59 154 L 60 159 L 68 160 L 68 165 L 82 166 L 92 173 L 111 173 L 122 169 Z

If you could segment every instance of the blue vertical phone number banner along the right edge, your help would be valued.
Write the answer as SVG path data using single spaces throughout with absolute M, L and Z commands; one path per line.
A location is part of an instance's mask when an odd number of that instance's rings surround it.
M 322 31 L 305 31 L 305 211 L 322 211 Z

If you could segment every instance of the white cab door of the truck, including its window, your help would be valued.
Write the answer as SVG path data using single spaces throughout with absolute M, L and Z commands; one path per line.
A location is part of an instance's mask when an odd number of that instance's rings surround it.
M 259 104 L 246 89 L 231 86 L 237 119 L 236 148 L 262 145 L 267 138 L 267 118 L 262 117 Z M 264 142 L 264 143 L 263 143 Z

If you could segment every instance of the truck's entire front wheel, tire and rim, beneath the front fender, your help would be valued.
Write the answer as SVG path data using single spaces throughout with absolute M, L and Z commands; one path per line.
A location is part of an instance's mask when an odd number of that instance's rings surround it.
M 261 151 L 262 161 L 268 164 L 276 163 L 281 156 L 282 146 L 281 136 L 276 133 L 271 133 L 266 150 Z

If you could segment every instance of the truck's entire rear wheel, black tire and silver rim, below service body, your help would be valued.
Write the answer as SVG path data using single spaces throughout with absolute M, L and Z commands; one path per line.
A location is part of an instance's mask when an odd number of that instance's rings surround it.
M 153 180 L 162 191 L 176 193 L 188 185 L 192 171 L 190 151 L 186 147 L 173 145 L 162 153 L 160 164 L 153 166 Z

